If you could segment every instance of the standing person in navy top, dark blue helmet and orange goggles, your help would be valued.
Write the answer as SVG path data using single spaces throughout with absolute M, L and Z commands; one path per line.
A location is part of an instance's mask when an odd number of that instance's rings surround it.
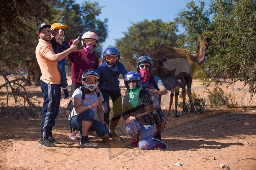
M 104 102 L 104 121 L 109 124 L 109 96 L 113 101 L 113 118 L 111 119 L 111 124 L 109 125 L 110 137 L 118 137 L 114 132 L 119 119 L 122 114 L 122 98 L 121 90 L 119 88 L 118 77 L 120 73 L 123 77 L 126 75 L 127 71 L 120 60 L 120 52 L 116 47 L 108 47 L 103 52 L 104 61 L 101 66 L 96 70 L 101 79 L 99 80 L 99 88 L 103 95 Z

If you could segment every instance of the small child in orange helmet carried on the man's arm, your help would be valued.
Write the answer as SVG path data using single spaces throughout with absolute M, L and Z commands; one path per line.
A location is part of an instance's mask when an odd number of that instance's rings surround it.
M 65 39 L 65 29 L 67 26 L 61 24 L 61 23 L 54 23 L 51 25 L 51 44 L 52 48 L 54 49 L 55 54 L 61 53 L 64 50 L 67 50 L 69 48 L 69 45 L 67 42 L 64 41 Z M 67 83 L 67 76 L 65 72 L 65 61 L 66 58 L 60 60 L 58 62 L 58 70 L 60 72 L 61 76 L 61 85 L 60 88 L 64 90 L 65 99 L 70 97 L 69 91 L 68 91 L 68 83 Z

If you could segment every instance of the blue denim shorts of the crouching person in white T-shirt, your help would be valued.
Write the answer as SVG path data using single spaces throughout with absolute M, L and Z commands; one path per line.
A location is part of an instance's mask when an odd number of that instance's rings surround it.
M 88 132 L 96 131 L 96 135 L 99 137 L 103 137 L 108 134 L 108 128 L 106 125 L 102 124 L 98 120 L 93 119 L 94 112 L 91 109 L 83 111 L 82 113 L 75 115 L 72 117 L 70 121 L 70 125 L 77 131 L 82 133 L 82 121 L 93 122 Z

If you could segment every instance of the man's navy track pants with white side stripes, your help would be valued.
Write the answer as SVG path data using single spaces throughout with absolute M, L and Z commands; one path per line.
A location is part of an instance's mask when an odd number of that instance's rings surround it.
M 41 80 L 41 90 L 44 98 L 41 115 L 41 140 L 52 136 L 52 127 L 60 107 L 60 84 L 47 84 Z

